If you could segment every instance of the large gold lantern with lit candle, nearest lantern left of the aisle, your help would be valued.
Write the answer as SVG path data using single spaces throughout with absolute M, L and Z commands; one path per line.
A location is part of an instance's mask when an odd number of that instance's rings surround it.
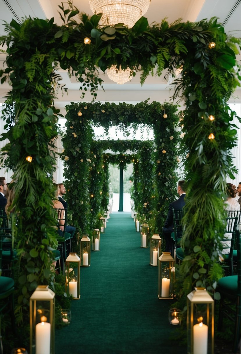
M 55 293 L 39 285 L 30 297 L 30 354 L 54 354 Z

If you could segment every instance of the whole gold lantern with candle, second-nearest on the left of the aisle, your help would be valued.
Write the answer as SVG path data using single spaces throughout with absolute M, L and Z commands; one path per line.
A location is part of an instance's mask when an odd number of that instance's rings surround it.
M 74 269 L 70 268 L 74 265 Z M 80 257 L 75 252 L 70 252 L 69 256 L 66 258 L 66 292 L 73 296 L 74 300 L 80 298 Z M 76 272 L 77 268 L 77 274 Z

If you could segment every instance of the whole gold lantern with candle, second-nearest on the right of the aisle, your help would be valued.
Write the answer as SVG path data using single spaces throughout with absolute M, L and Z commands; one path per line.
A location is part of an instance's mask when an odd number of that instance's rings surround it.
M 174 259 L 170 252 L 162 252 L 158 259 L 158 298 L 172 299 L 175 280 Z

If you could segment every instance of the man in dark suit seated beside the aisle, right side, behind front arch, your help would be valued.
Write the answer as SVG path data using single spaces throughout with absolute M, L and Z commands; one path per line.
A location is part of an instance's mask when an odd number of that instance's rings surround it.
M 166 240 L 166 248 L 165 252 L 171 252 L 172 253 L 172 238 L 171 238 L 171 233 L 174 231 L 174 222 L 173 222 L 173 211 L 172 208 L 177 210 L 177 209 L 182 209 L 183 206 L 185 205 L 185 187 L 184 187 L 185 181 L 179 181 L 177 183 L 177 194 L 179 195 L 179 198 L 172 203 L 169 204 L 169 209 L 167 213 L 167 218 L 165 225 L 163 227 L 163 235 Z

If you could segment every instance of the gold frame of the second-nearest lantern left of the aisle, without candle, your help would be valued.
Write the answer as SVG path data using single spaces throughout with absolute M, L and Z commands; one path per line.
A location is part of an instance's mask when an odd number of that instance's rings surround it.
M 77 292 L 76 292 L 76 296 L 75 295 L 75 289 L 71 289 L 70 291 L 70 281 L 71 281 L 71 278 L 70 278 L 70 263 L 76 263 L 76 266 L 75 269 L 77 268 Z M 71 266 L 72 266 L 71 264 Z M 73 299 L 74 300 L 78 300 L 80 299 L 80 257 L 77 255 L 76 252 L 70 252 L 69 253 L 69 256 L 66 258 L 66 261 L 65 261 L 65 269 L 66 269 L 66 292 L 69 294 L 69 295 L 72 295 L 73 296 Z M 72 285 L 72 284 L 71 284 Z

